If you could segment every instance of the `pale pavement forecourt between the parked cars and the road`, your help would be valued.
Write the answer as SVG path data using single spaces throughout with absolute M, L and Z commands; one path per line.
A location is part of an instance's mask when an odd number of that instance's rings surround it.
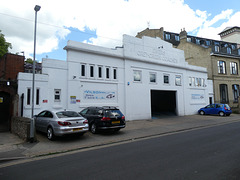
M 127 143 L 144 138 L 169 135 L 183 131 L 240 122 L 239 114 L 231 116 L 162 116 L 150 120 L 127 121 L 126 128 L 119 132 L 85 133 L 83 136 L 59 137 L 49 141 L 45 134 L 37 133 L 37 142 L 24 142 L 10 132 L 0 133 L 0 167 L 9 161 L 87 150 L 118 143 Z

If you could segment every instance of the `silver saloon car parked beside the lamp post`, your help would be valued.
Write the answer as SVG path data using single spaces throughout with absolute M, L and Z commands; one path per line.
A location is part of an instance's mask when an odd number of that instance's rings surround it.
M 35 116 L 37 131 L 47 133 L 47 138 L 88 131 L 88 121 L 75 111 L 42 111 Z

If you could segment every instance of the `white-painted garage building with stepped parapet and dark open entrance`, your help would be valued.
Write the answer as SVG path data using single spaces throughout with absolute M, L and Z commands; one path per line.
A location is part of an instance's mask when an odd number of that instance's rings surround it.
M 43 59 L 42 74 L 36 74 L 34 114 L 117 106 L 127 120 L 183 116 L 196 114 L 213 97 L 206 69 L 188 65 L 183 51 L 160 38 L 124 35 L 115 49 L 69 41 L 64 49 L 67 61 Z M 18 81 L 23 115 L 30 117 L 32 74 L 19 73 Z

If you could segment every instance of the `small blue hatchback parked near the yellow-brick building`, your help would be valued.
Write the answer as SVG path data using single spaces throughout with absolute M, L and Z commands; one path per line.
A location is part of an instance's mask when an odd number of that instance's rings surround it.
M 206 107 L 199 109 L 198 113 L 200 115 L 213 114 L 219 116 L 230 116 L 232 110 L 228 104 L 209 104 Z

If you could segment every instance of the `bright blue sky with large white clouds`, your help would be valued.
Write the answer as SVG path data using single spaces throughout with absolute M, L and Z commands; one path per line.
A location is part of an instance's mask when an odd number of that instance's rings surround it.
M 36 60 L 66 60 L 68 40 L 114 48 L 123 34 L 150 28 L 220 40 L 218 33 L 240 27 L 239 0 L 1 0 L 0 30 L 11 53 L 33 58 L 35 5 Z

